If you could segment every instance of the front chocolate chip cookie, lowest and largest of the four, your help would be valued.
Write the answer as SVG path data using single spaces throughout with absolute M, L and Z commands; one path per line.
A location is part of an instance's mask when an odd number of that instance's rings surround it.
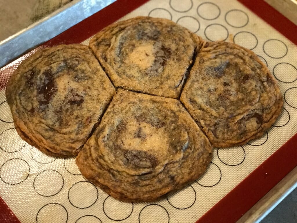
M 119 89 L 76 163 L 116 199 L 142 202 L 199 178 L 211 158 L 211 144 L 178 100 Z

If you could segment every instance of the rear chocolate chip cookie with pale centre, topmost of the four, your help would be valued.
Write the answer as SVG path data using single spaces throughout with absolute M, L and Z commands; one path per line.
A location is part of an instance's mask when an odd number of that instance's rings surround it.
M 136 17 L 107 26 L 90 47 L 118 88 L 178 98 L 202 40 L 176 23 Z

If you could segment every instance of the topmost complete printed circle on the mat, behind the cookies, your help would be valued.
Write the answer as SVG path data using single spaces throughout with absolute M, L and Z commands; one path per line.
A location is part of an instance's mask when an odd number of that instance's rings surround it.
M 197 14 L 206 20 L 213 20 L 220 16 L 219 6 L 212 2 L 203 2 L 197 7 Z

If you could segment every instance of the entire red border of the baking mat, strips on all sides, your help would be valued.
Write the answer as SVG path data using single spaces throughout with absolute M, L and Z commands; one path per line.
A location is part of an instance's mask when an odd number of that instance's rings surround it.
M 43 45 L 80 43 L 148 0 L 117 0 Z M 263 0 L 238 0 L 297 45 L 296 26 Z M 120 10 L 119 10 L 120 9 Z M 284 25 L 285 24 L 285 25 Z M 205 213 L 197 223 L 236 222 L 297 166 L 297 134 Z M 0 222 L 20 221 L 0 197 Z M 6 218 L 4 218 L 6 217 Z

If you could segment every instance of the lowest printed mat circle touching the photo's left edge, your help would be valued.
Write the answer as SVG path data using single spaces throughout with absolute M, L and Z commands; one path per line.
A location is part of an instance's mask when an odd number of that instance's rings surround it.
M 12 158 L 2 164 L 0 178 L 4 183 L 15 185 L 25 181 L 30 172 L 29 164 L 20 158 Z

